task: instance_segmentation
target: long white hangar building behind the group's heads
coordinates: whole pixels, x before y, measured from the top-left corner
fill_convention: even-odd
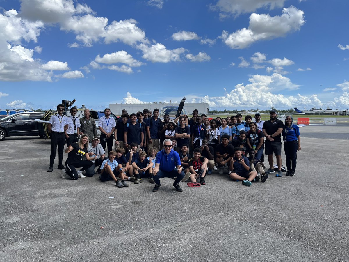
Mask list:
[[[162,103],[162,102],[153,102],[148,104],[109,104],[110,111],[114,115],[121,116],[122,109],[126,109],[128,114],[137,113],[138,111],[143,112],[143,109],[148,109],[153,112],[155,108],[161,110],[165,106],[177,106],[179,103]],[[184,109],[187,114],[191,115],[194,109],[198,109],[200,114],[209,114],[210,108],[208,103],[185,103]]]

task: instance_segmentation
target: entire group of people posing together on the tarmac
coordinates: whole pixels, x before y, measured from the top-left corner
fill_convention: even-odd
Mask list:
[[[97,126],[88,109],[80,119],[75,116],[76,108],[70,109],[69,117],[62,114],[63,110],[64,105],[59,104],[58,113],[51,116],[48,124],[51,155],[47,172],[53,171],[58,146],[62,178],[77,180],[97,173],[101,181],[113,180],[120,188],[128,187],[127,181],[139,184],[146,178],[155,183],[153,191],[158,191],[160,178],[172,177],[173,187],[183,191],[180,181],[188,181],[188,187],[200,187],[206,184],[207,174],[213,170],[223,174],[225,167],[232,180],[249,186],[253,181],[265,182],[270,173],[282,176],[281,136],[286,175],[295,175],[297,150],[301,149],[299,128],[293,124],[293,118],[287,116],[283,123],[274,110],[265,122],[261,121],[260,113],[254,115],[255,121],[245,116],[243,122],[240,114],[209,119],[205,114],[199,116],[198,110],[193,111],[192,118],[181,115],[170,119],[165,114],[162,120],[158,109],[153,110],[152,116],[148,109],[131,115],[123,110],[115,121],[106,108],[98,121],[101,136],[97,136]],[[65,167],[64,143],[67,144],[64,152],[68,154]],[[264,152],[269,162],[266,172]]]

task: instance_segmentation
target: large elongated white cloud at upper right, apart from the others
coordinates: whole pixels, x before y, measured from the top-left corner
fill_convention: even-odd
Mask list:
[[[283,8],[281,16],[271,17],[269,14],[250,15],[250,25],[229,34],[223,31],[220,36],[223,42],[232,49],[244,49],[260,40],[283,37],[299,30],[305,23],[304,12],[290,6]]]

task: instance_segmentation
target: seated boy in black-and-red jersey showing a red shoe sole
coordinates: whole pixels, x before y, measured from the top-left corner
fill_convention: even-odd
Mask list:
[[[193,155],[193,158],[189,160],[190,172],[185,174],[182,182],[185,182],[189,178],[191,182],[187,183],[188,187],[200,187],[200,184],[206,184],[204,177],[207,171],[208,159],[201,157],[200,148],[195,148]],[[200,179],[200,184],[196,182],[196,179]]]

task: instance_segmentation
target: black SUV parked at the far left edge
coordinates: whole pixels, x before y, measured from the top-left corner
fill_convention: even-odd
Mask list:
[[[0,141],[12,136],[39,136],[35,129],[35,119],[41,119],[44,113],[24,112],[0,119]]]

